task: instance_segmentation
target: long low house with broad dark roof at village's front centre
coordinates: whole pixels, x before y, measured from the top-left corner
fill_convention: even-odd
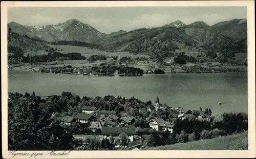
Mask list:
[[[101,130],[103,139],[118,138],[121,133],[127,134],[130,142],[134,141],[135,127],[102,127]]]

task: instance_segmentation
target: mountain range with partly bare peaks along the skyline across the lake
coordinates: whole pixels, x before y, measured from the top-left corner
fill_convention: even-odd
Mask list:
[[[247,19],[232,19],[212,26],[203,21],[186,25],[176,20],[162,27],[141,28],[129,32],[119,30],[111,34],[101,33],[77,19],[41,26],[23,26],[10,22],[8,27],[11,32],[41,40],[41,43],[81,41],[96,44],[106,51],[129,51],[151,56],[157,56],[160,52],[168,54],[186,47],[219,53],[247,52]],[[13,43],[13,37],[9,41]],[[12,45],[11,43],[8,44]],[[24,45],[20,45],[26,50]]]

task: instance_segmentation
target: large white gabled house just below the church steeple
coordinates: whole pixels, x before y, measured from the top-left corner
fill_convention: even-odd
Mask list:
[[[166,122],[163,119],[152,119],[151,121],[148,122],[150,127],[152,127],[153,129],[160,131],[170,131],[173,132],[173,124],[170,122]]]

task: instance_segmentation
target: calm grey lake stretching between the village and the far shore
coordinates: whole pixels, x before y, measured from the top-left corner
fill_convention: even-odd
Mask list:
[[[248,112],[247,72],[216,74],[147,74],[137,77],[103,77],[8,71],[8,92],[35,92],[38,96],[63,91],[82,96],[135,97],[184,109],[210,108],[223,112]],[[218,105],[222,102],[222,105]]]

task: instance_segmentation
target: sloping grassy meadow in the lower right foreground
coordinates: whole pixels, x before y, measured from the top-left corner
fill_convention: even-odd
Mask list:
[[[248,150],[248,131],[215,139],[151,147],[143,150]]]

